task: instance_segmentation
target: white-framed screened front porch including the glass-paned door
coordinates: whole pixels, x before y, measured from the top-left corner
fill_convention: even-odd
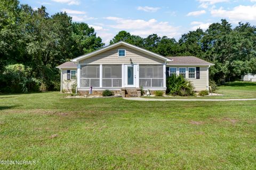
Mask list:
[[[99,64],[80,65],[78,88],[117,89],[122,87],[165,88],[165,65]]]

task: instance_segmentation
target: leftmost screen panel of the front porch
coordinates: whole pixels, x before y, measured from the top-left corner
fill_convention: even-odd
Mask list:
[[[100,66],[81,66],[80,87],[100,87]]]

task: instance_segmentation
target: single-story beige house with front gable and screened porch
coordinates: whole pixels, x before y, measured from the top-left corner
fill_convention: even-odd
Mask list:
[[[88,94],[92,87],[92,94],[100,95],[104,90],[120,94],[121,91],[138,90],[141,86],[151,93],[165,92],[166,77],[172,74],[190,80],[195,91],[208,90],[209,67],[213,65],[195,56],[165,57],[118,42],[78,56],[57,68],[61,70],[62,92],[76,82],[78,93]]]

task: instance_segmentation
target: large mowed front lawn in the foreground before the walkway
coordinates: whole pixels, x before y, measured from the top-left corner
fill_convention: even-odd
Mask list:
[[[0,95],[1,169],[256,169],[256,101]],[[0,160],[0,161],[1,161]]]

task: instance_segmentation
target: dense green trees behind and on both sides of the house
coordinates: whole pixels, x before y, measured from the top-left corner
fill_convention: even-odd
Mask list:
[[[232,27],[227,20],[205,31],[183,34],[179,41],[157,34],[146,38],[120,31],[110,44],[125,41],[163,56],[194,55],[215,66],[210,78],[217,83],[256,74],[256,28],[250,23]],[[17,0],[0,2],[0,92],[59,90],[55,67],[105,46],[94,29],[72,22],[66,12],[49,15],[45,6],[34,10]]]

